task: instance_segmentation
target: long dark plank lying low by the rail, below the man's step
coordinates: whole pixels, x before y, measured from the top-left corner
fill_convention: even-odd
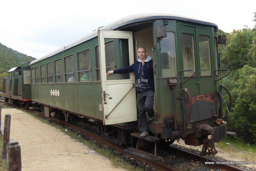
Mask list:
[[[163,160],[163,157],[160,157],[160,156],[157,156],[157,155],[154,155],[154,154],[151,154],[151,153],[148,153],[148,152],[136,149],[136,148],[132,148],[132,147],[126,148],[124,151],[128,154],[131,154],[131,155],[134,155],[137,157],[142,157],[143,159],[146,159],[146,160],[149,160],[152,162],[159,162],[159,161]]]

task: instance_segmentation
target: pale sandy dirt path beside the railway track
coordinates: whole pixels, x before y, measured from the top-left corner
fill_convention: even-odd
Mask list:
[[[11,114],[10,141],[20,144],[22,171],[125,171],[86,145],[20,110],[2,109],[2,132],[5,114]]]

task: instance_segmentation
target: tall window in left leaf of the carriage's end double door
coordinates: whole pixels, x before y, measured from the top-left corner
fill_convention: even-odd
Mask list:
[[[183,70],[195,70],[194,36],[183,33],[181,35],[181,42],[183,54]],[[192,74],[192,71],[184,72],[184,76],[191,76]]]

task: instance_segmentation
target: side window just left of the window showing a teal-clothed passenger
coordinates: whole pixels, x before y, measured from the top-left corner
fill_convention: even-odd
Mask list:
[[[75,81],[74,56],[65,58],[65,79],[66,82]]]

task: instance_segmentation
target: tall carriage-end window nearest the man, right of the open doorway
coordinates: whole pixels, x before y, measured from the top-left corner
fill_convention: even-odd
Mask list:
[[[177,76],[175,34],[173,32],[167,32],[167,37],[161,40],[161,64],[163,77]]]

